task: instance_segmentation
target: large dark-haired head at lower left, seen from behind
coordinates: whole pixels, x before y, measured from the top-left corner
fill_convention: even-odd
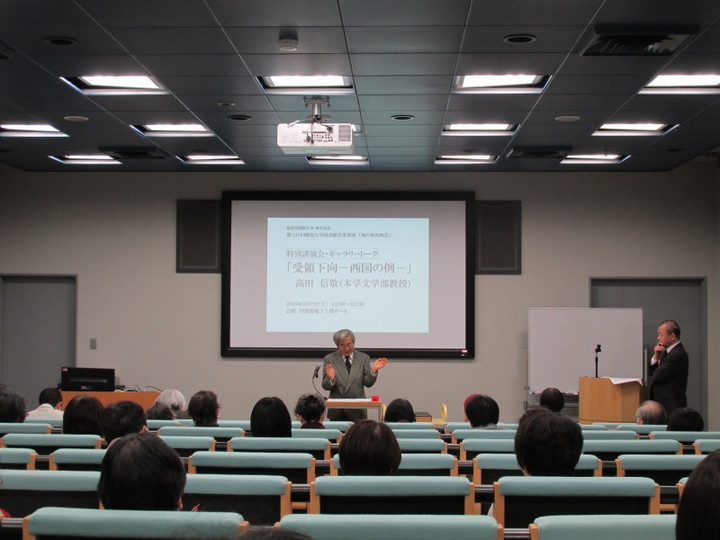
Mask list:
[[[98,495],[118,510],[179,510],[185,489],[180,456],[153,433],[115,439],[102,461]]]

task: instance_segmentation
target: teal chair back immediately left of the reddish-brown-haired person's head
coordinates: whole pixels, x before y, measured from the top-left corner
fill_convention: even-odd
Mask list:
[[[195,452],[188,458],[193,474],[280,475],[293,484],[315,480],[315,458],[302,452]]]

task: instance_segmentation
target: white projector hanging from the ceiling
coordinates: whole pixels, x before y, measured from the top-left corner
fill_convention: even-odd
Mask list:
[[[352,154],[355,150],[352,124],[278,124],[277,143],[286,154]]]

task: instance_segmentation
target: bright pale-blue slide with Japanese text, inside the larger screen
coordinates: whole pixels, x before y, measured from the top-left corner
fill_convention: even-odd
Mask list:
[[[428,331],[428,218],[269,218],[267,331]]]

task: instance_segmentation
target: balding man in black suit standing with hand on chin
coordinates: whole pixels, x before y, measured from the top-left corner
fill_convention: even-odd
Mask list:
[[[665,407],[668,417],[687,406],[688,355],[680,343],[680,327],[673,320],[658,327],[658,344],[650,361],[650,399]]]

